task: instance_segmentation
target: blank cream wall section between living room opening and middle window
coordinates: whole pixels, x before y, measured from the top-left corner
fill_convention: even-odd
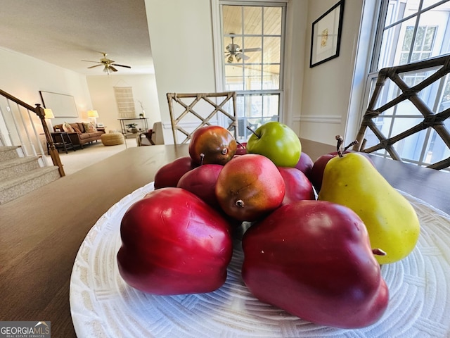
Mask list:
[[[210,0],[146,0],[161,119],[170,125],[168,92],[215,92]],[[164,130],[172,144],[172,130]]]

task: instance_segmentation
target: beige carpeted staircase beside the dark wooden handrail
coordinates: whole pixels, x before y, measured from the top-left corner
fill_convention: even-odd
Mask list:
[[[58,166],[41,166],[40,156],[23,156],[20,146],[0,146],[0,204],[60,177]]]

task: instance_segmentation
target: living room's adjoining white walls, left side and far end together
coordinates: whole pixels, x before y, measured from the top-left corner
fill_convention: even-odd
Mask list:
[[[54,118],[51,120],[52,125],[89,121],[87,111],[96,109],[100,116],[98,123],[106,125],[107,130],[119,130],[114,86],[133,87],[136,115],[141,113],[138,101],[142,101],[148,127],[161,120],[155,75],[102,74],[86,77],[3,47],[0,47],[0,65],[0,89],[31,106],[42,105],[39,90],[74,96],[78,117]],[[34,124],[41,132],[39,119]]]

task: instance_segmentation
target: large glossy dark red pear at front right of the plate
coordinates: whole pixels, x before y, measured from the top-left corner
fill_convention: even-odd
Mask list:
[[[378,321],[389,290],[361,218],[324,201],[276,209],[243,236],[250,292],[312,323],[352,329]]]

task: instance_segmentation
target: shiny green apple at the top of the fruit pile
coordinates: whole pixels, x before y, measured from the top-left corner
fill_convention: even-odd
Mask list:
[[[278,167],[295,167],[302,154],[302,144],[290,127],[271,121],[253,132],[247,142],[247,151],[270,158]]]

